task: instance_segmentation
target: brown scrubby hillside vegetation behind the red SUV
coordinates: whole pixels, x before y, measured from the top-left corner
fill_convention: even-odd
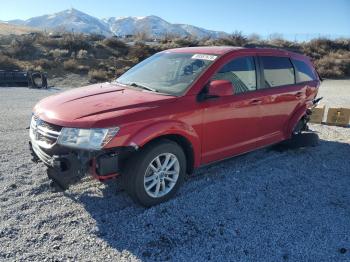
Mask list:
[[[297,43],[275,38],[260,40],[235,33],[221,39],[165,37],[159,42],[144,38],[126,43],[99,35],[44,33],[0,36],[0,69],[40,70],[49,78],[67,73],[89,76],[90,82],[113,79],[134,64],[164,49],[186,46],[268,46],[292,50],[310,56],[319,74],[325,78],[350,76],[350,39],[314,39]]]

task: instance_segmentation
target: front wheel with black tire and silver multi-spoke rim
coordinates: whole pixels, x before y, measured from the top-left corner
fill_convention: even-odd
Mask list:
[[[150,143],[132,157],[123,174],[131,198],[150,207],[174,196],[184,181],[186,157],[175,142],[162,139]]]

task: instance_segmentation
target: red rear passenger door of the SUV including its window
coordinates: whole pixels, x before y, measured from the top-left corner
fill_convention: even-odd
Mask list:
[[[259,55],[261,126],[257,146],[266,146],[285,139],[284,128],[304,98],[296,84],[293,64],[287,56]]]

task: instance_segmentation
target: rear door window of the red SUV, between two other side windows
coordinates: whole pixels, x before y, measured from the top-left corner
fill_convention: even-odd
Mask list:
[[[288,57],[261,56],[264,88],[295,84],[294,67]]]

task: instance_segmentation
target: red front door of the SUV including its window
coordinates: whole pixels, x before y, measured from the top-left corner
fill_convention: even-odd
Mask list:
[[[231,81],[234,95],[203,102],[202,164],[253,150],[260,136],[254,57],[234,58],[212,80]]]

